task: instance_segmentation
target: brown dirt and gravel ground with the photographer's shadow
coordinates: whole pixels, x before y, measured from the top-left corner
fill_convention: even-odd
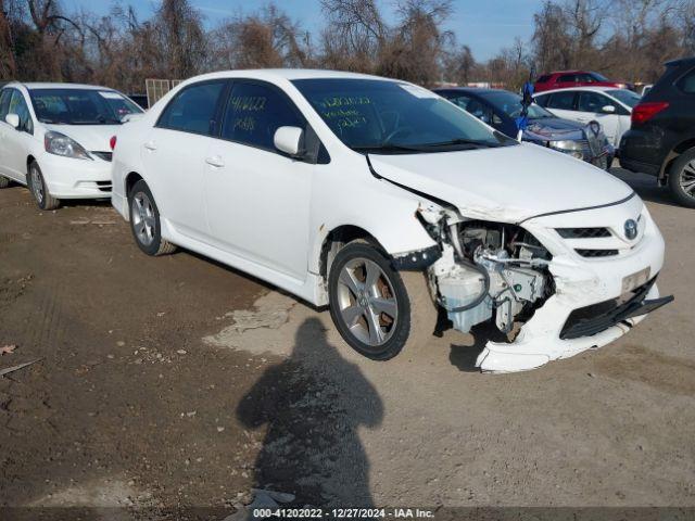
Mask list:
[[[675,302],[508,376],[473,370],[482,334],[359,358],[326,312],[186,252],[146,257],[108,203],[39,213],[2,190],[0,347],[17,347],[0,368],[41,360],[0,379],[0,506],[230,513],[255,485],[295,505],[695,506],[695,212],[622,177]]]

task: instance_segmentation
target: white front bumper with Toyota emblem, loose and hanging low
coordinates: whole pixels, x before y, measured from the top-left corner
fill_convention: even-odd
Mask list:
[[[639,215],[640,237],[632,243],[620,239],[626,220]],[[614,239],[585,241],[591,241],[590,247],[612,247],[616,242],[620,253],[604,258],[579,255],[574,250],[581,247],[578,241],[565,240],[556,231],[578,223],[616,230]],[[514,342],[488,342],[476,364],[481,370],[523,371],[602,347],[630,331],[647,313],[671,301],[671,297],[659,298],[654,282],[664,266],[664,239],[639,198],[598,209],[539,217],[522,226],[553,255],[548,270],[555,282],[555,294],[535,309]],[[626,280],[643,271],[648,274],[649,283],[641,282],[643,285],[636,289],[624,288]],[[630,291],[633,294],[627,294]]]

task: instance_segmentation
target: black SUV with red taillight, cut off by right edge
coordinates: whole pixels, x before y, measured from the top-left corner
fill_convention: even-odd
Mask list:
[[[695,208],[695,58],[666,72],[632,110],[620,140],[620,164],[668,182],[679,203]]]

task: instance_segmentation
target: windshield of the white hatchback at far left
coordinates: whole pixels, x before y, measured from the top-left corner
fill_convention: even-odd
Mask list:
[[[36,117],[55,125],[118,125],[138,105],[114,90],[31,89]]]

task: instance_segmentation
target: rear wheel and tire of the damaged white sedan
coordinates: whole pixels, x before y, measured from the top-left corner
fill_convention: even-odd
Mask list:
[[[160,211],[148,183],[143,180],[136,182],[128,192],[128,212],[130,213],[130,231],[142,252],[157,256],[176,251],[175,244],[162,238]]]

